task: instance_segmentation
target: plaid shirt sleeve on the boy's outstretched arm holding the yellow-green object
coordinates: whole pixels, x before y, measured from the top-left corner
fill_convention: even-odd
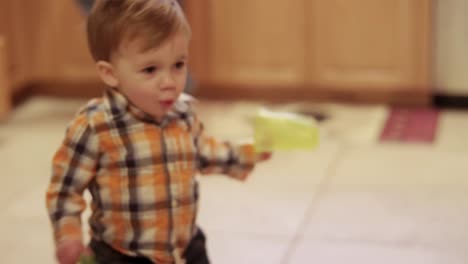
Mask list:
[[[253,170],[256,155],[252,144],[220,142],[205,135],[203,124],[194,117],[194,138],[198,169],[202,174],[221,173],[244,180]]]

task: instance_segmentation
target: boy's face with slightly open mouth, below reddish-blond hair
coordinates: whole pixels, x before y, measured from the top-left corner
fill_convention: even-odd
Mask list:
[[[138,108],[161,120],[185,87],[188,45],[183,32],[148,51],[142,51],[138,40],[122,44],[111,59],[114,86]]]

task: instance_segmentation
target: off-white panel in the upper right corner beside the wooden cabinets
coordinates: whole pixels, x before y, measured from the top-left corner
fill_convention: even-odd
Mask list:
[[[434,0],[436,92],[468,96],[468,1]]]

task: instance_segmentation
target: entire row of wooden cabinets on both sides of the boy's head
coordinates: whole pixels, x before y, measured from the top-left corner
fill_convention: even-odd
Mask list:
[[[428,102],[431,0],[203,0],[185,9],[202,95]],[[63,88],[100,83],[75,1],[0,1],[0,35],[13,91],[58,83],[53,92],[100,93]]]

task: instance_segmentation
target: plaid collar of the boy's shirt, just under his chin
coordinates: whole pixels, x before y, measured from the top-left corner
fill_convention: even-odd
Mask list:
[[[182,93],[174,103],[172,109],[163,118],[162,122],[159,122],[153,116],[131,103],[128,98],[116,88],[107,89],[105,96],[107,98],[110,113],[114,119],[131,114],[137,119],[156,124],[168,123],[169,121],[183,117],[190,111],[190,102],[195,100],[192,96]]]

